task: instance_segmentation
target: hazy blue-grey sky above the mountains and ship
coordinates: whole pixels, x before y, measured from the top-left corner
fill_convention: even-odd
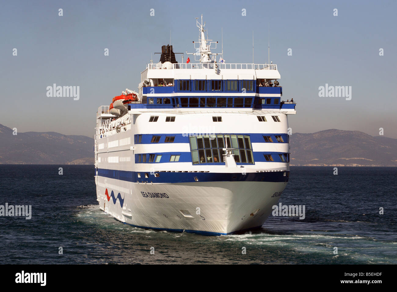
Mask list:
[[[386,137],[397,138],[396,11],[396,1],[3,1],[0,124],[93,137],[98,106],[137,89],[151,53],[170,43],[170,31],[174,52],[194,51],[195,17],[203,14],[210,39],[221,43],[223,27],[227,63],[252,62],[252,30],[254,62],[267,62],[270,23],[282,99],[297,102],[297,114],[289,116],[293,132],[378,135],[384,128]],[[53,83],[79,86],[80,99],[47,97]],[[351,100],[319,97],[326,83],[351,86]]]

